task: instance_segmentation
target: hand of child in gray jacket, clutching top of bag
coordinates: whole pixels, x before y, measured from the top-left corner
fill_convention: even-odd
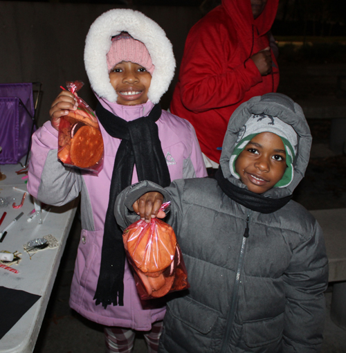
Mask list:
[[[142,195],[133,205],[134,212],[140,215],[140,219],[149,223],[150,219],[164,218],[165,212],[160,211],[163,203],[163,195],[160,192],[147,192]]]

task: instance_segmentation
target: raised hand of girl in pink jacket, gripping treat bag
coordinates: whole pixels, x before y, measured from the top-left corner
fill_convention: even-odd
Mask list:
[[[77,98],[70,91],[62,91],[54,100],[49,110],[51,123],[54,129],[59,129],[60,118],[69,114],[69,110],[76,110],[78,107]],[[66,110],[68,109],[68,110]]]

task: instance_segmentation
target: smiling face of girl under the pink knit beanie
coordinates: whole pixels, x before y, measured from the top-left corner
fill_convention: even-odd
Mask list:
[[[109,73],[109,80],[118,94],[120,105],[139,105],[147,102],[152,75],[134,62],[120,62]]]

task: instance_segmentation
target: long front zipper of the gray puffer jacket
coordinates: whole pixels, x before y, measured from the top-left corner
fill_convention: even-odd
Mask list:
[[[227,352],[228,344],[229,344],[229,340],[230,340],[230,334],[232,332],[233,323],[235,320],[235,309],[237,307],[237,300],[238,300],[238,296],[239,296],[240,273],[242,272],[242,268],[244,265],[245,244],[246,244],[246,239],[248,238],[248,231],[249,231],[248,224],[250,221],[251,213],[252,213],[252,211],[250,210],[248,212],[248,217],[246,217],[246,227],[245,227],[244,235],[243,235],[243,239],[242,239],[242,246],[240,247],[239,260],[238,260],[238,264],[237,264],[237,274],[235,275],[235,282],[233,285],[233,295],[230,300],[230,309],[227,314],[226,328],[225,328],[224,338],[223,338],[222,344],[221,344],[220,353]]]

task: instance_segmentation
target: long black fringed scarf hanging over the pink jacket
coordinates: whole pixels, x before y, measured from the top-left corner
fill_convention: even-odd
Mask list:
[[[95,291],[95,304],[124,305],[125,249],[122,243],[122,230],[114,217],[114,204],[118,194],[131,185],[134,165],[138,181],[154,181],[163,187],[170,185],[165,156],[158,138],[156,120],[161,116],[160,105],[154,105],[149,116],[127,122],[115,116],[100,103],[96,115],[109,135],[122,141],[116,153],[111,189],[102,243],[102,257],[98,287]]]

